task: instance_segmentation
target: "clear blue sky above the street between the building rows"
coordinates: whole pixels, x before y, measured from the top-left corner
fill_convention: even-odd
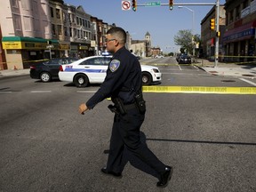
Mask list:
[[[132,0],[131,0],[132,2]],[[168,4],[169,0],[137,0],[137,4],[161,2]],[[179,52],[180,46],[175,45],[174,36],[180,30],[193,28],[193,12],[195,15],[195,34],[201,34],[201,21],[212,9],[212,5],[183,5],[186,3],[216,3],[216,0],[173,0],[173,9],[169,6],[138,6],[137,11],[122,10],[122,0],[64,0],[65,4],[82,5],[84,11],[93,17],[108,23],[115,23],[124,28],[132,36],[132,40],[144,40],[146,33],[151,36],[152,46],[159,46],[163,52]],[[220,0],[225,4],[225,0]],[[185,8],[187,7],[187,8]]]

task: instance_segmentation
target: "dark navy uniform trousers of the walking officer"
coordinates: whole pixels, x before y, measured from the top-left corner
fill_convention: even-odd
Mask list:
[[[148,149],[146,143],[140,141],[140,126],[144,118],[145,115],[141,115],[137,108],[128,110],[124,116],[115,115],[108,155],[108,172],[123,172],[127,163],[124,148],[159,174],[164,172],[165,165]]]

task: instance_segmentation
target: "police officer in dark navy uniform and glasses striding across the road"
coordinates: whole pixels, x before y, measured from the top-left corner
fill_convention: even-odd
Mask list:
[[[131,52],[125,49],[126,33],[123,28],[110,28],[106,36],[108,52],[113,54],[108,64],[107,76],[100,89],[90,100],[79,106],[79,112],[84,114],[88,109],[108,97],[115,106],[109,106],[115,111],[114,124],[110,139],[107,167],[101,172],[122,177],[127,163],[123,158],[124,148],[148,164],[159,174],[156,186],[165,188],[172,177],[172,167],[163,164],[147,147],[140,142],[140,126],[145,118],[145,102],[141,92],[140,62]],[[137,98],[136,98],[137,97]]]

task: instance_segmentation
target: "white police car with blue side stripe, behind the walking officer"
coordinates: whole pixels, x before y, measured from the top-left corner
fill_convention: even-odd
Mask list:
[[[60,81],[73,82],[76,87],[86,87],[89,84],[103,83],[112,56],[92,56],[68,65],[61,65]],[[161,81],[159,68],[141,65],[142,84],[152,84]]]

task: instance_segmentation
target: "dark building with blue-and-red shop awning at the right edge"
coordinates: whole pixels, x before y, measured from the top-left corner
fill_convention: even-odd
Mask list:
[[[255,55],[256,1],[227,0],[226,31],[223,36],[225,60],[252,61]]]

